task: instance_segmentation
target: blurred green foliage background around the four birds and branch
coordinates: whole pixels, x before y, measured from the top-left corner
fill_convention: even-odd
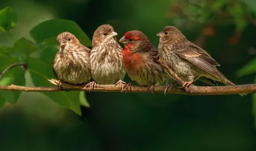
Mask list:
[[[221,64],[230,81],[255,81],[255,0],[1,0],[0,9],[6,6],[17,14],[17,26],[0,28],[0,69],[17,61],[29,65],[26,72],[12,69],[0,84],[51,86],[46,79],[53,78],[56,34],[68,30],[90,47],[88,37],[101,24],[111,24],[118,39],[141,30],[156,47],[156,34],[176,26]],[[15,16],[7,18],[15,23]],[[0,19],[0,27],[8,29]],[[51,19],[65,20],[44,22]],[[0,91],[0,106],[1,151],[256,150],[252,94]]]

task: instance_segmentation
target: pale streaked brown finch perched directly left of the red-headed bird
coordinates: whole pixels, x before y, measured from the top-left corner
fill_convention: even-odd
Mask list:
[[[92,78],[97,84],[125,84],[122,79],[125,76],[122,59],[122,47],[116,42],[117,33],[109,24],[99,26],[92,38],[92,52],[90,64]],[[92,89],[97,86],[90,83]]]

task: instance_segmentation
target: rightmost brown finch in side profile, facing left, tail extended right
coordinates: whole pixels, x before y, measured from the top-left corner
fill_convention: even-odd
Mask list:
[[[186,81],[183,87],[188,88],[200,77],[207,77],[226,85],[235,85],[216,68],[220,64],[202,48],[189,42],[179,29],[166,26],[157,36],[160,36],[159,58],[168,64],[177,76]]]

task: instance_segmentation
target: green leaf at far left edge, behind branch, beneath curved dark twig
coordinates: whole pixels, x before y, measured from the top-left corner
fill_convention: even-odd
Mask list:
[[[15,67],[8,70],[7,74],[4,75],[0,81],[0,85],[8,86],[11,84],[24,86],[26,84],[25,72],[22,67]],[[10,103],[15,103],[20,97],[22,91],[0,91],[0,95]]]

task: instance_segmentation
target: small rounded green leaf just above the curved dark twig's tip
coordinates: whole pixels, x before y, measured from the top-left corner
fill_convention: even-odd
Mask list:
[[[38,45],[34,44],[30,40],[26,38],[20,38],[15,42],[13,45],[13,48],[16,52],[19,54],[24,54],[26,57],[29,57],[29,55],[39,49]]]

